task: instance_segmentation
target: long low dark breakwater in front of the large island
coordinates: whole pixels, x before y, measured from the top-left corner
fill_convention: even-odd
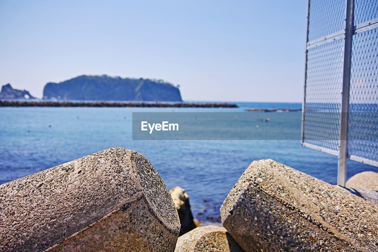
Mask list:
[[[149,102],[72,102],[72,101],[0,101],[0,107],[238,107],[232,103],[149,103]]]

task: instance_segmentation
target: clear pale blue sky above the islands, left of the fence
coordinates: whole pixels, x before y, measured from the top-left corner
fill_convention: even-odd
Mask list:
[[[302,101],[306,1],[0,0],[0,84],[164,79],[183,100]]]

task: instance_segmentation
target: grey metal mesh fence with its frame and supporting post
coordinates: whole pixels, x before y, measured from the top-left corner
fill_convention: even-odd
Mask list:
[[[339,156],[339,185],[344,157],[378,166],[377,112],[378,0],[309,0],[302,145]]]

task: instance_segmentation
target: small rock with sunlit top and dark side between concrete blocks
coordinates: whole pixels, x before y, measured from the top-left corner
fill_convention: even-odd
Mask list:
[[[186,193],[185,189],[177,186],[169,190],[169,193],[172,196],[178,212],[178,217],[180,218],[180,235],[195,229],[196,226],[193,221],[193,215],[189,204],[189,195]]]

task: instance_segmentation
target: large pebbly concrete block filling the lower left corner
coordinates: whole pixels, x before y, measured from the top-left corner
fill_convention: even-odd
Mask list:
[[[120,147],[0,185],[0,209],[2,251],[173,251],[180,230],[158,172]]]

